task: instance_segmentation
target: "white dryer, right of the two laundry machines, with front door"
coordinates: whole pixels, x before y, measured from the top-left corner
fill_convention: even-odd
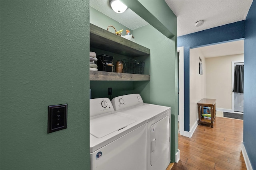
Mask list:
[[[114,110],[147,121],[147,170],[166,170],[170,164],[171,108],[143,102],[140,94],[112,99]]]

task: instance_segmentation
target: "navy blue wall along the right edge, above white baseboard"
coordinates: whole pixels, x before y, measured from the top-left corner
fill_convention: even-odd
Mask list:
[[[256,170],[256,1],[245,21],[244,39],[244,147]]]

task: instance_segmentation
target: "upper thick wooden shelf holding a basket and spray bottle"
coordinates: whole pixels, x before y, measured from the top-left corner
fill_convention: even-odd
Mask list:
[[[92,23],[90,23],[90,46],[128,57],[138,57],[150,54],[150,49],[115,35]]]

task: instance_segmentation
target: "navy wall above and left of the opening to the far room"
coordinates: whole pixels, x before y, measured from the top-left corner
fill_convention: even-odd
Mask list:
[[[190,131],[189,127],[189,49],[244,39],[245,20],[206,29],[196,33],[178,37],[178,47],[184,46],[184,130]]]

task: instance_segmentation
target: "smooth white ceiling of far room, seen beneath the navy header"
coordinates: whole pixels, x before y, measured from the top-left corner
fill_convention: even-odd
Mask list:
[[[244,54],[244,40],[232,41],[197,48],[205,58]]]

